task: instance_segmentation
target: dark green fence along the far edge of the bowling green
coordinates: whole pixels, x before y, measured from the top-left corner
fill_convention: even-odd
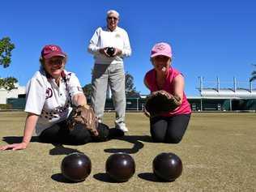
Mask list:
[[[237,100],[237,99],[207,99],[196,98],[188,99],[193,111],[256,111],[256,99]],[[91,103],[91,100],[87,100]],[[143,111],[145,98],[127,98],[126,110]],[[7,99],[8,109],[24,109],[26,105],[25,98]],[[113,100],[107,99],[105,110],[114,110]]]

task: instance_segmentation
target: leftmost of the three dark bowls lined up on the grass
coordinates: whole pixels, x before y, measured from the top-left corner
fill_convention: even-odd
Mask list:
[[[62,175],[69,181],[84,181],[91,173],[92,163],[88,156],[74,152],[62,160]]]

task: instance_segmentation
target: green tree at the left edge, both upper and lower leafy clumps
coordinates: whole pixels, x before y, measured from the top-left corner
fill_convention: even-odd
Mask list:
[[[15,45],[11,43],[9,37],[3,37],[0,40],[0,65],[3,68],[10,66],[11,64],[11,51],[15,49]],[[6,90],[10,91],[15,88],[15,83],[18,80],[15,77],[0,78],[0,87],[4,87]]]

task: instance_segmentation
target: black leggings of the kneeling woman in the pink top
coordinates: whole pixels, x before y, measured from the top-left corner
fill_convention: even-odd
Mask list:
[[[150,133],[156,143],[179,143],[190,122],[190,114],[173,117],[152,117]]]

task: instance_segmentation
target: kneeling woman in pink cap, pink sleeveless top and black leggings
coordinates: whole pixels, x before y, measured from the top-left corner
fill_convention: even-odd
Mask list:
[[[181,98],[179,106],[169,113],[150,117],[150,132],[154,142],[179,143],[190,122],[190,103],[184,93],[184,77],[171,66],[172,49],[161,42],[151,49],[152,70],[147,71],[144,83],[151,92],[164,90]]]

